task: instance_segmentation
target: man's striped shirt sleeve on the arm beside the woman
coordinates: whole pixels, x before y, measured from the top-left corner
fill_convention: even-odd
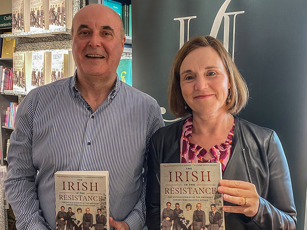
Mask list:
[[[151,109],[149,117],[153,117],[151,124],[149,125],[149,131],[147,134],[146,154],[143,163],[143,173],[141,176],[141,195],[138,202],[134,206],[134,209],[125,218],[125,222],[128,224],[130,230],[139,230],[144,227],[146,221],[146,207],[145,207],[145,194],[146,194],[146,182],[147,182],[147,153],[149,149],[150,138],[159,128],[164,127],[164,121],[161,114],[160,106],[154,101],[154,106]]]

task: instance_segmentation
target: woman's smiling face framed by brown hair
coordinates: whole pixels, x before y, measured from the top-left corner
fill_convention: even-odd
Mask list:
[[[192,50],[180,66],[180,86],[193,115],[218,115],[226,112],[230,83],[219,54],[212,47]]]

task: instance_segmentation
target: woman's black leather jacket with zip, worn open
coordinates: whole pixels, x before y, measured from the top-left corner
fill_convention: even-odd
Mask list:
[[[160,128],[152,136],[148,153],[147,226],[160,229],[160,163],[180,162],[180,136],[184,121]],[[159,180],[158,180],[159,179]],[[259,194],[255,217],[225,212],[225,229],[295,229],[296,209],[289,168],[276,133],[235,118],[231,156],[223,179],[251,182]],[[235,205],[224,201],[224,205]]]

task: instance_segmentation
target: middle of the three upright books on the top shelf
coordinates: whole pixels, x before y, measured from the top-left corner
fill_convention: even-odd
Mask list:
[[[48,10],[48,0],[30,0],[30,31],[42,31],[49,29],[49,23],[46,23],[46,15]],[[47,10],[47,11],[46,11]]]

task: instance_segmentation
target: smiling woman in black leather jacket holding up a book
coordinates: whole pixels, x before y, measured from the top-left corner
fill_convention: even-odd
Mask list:
[[[276,133],[233,116],[247,99],[247,85],[219,40],[194,37],[177,52],[169,105],[177,117],[189,117],[152,136],[149,230],[160,229],[160,163],[180,162],[221,162],[225,229],[295,229],[290,174]]]

